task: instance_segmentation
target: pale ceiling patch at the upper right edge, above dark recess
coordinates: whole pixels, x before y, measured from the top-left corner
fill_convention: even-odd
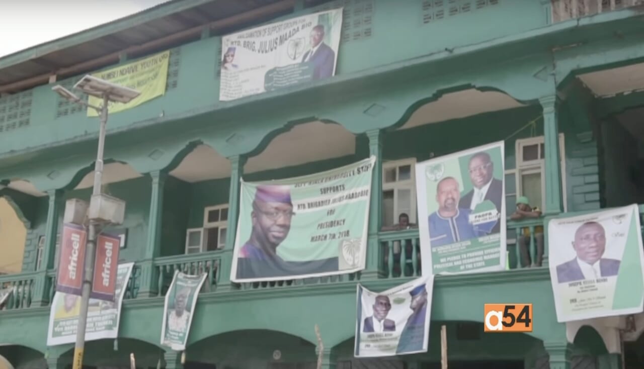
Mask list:
[[[644,89],[644,63],[594,71],[578,76],[598,97]]]

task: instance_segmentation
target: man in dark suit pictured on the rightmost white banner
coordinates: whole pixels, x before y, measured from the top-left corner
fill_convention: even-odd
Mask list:
[[[574,232],[573,248],[577,257],[557,265],[559,283],[617,275],[620,261],[601,257],[606,249],[606,232],[600,223],[583,223]]]

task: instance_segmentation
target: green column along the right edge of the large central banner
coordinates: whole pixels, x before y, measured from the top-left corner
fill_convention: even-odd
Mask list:
[[[383,202],[383,135],[380,129],[372,129],[366,132],[369,138],[369,155],[375,156],[374,175],[371,182],[371,204],[369,207],[369,234],[366,250],[366,270],[363,276],[366,278],[378,278],[380,266],[380,241],[378,232],[382,223],[382,202]]]

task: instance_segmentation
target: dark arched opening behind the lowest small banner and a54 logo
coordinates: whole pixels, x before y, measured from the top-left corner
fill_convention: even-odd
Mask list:
[[[483,323],[470,321],[431,321],[427,352],[381,358],[355,358],[354,337],[334,347],[339,367],[440,369],[440,327],[446,326],[448,368],[519,369],[533,360],[532,352],[541,341],[527,334],[486,334]]]

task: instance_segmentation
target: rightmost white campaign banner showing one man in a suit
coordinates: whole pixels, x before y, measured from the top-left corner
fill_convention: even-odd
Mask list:
[[[644,310],[638,205],[550,220],[548,245],[557,321]]]

